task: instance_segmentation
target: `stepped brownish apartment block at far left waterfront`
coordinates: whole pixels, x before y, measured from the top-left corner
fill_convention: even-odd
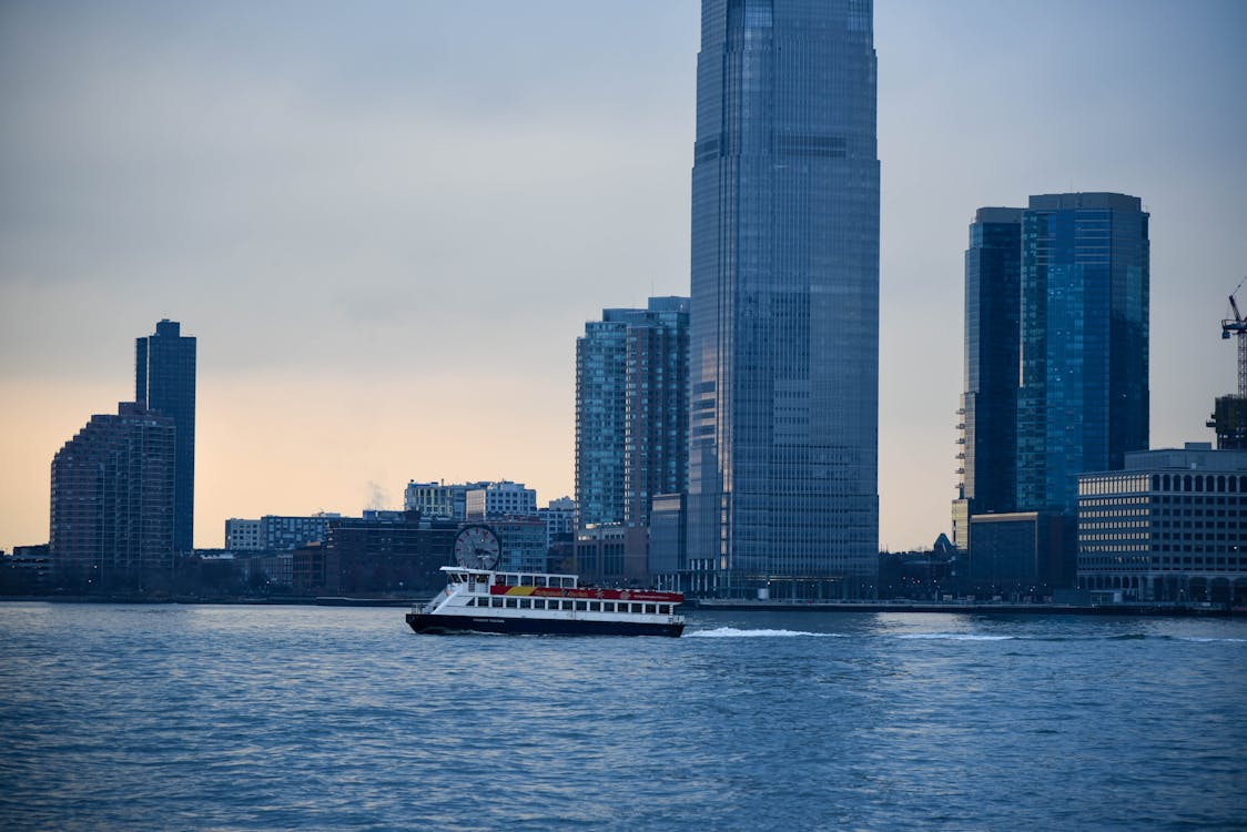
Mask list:
[[[173,565],[176,424],[123,402],[56,452],[49,549],[80,589],[151,586]]]

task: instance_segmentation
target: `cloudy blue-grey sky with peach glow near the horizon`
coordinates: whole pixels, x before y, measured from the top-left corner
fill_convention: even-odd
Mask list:
[[[949,529],[966,227],[1151,212],[1152,447],[1212,440],[1247,277],[1247,4],[877,0],[880,545]],[[52,455],[198,338],[196,545],[572,493],[575,339],[688,293],[696,0],[0,1],[0,549]]]

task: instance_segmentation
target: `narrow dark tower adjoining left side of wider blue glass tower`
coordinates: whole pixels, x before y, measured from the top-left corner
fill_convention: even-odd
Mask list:
[[[958,438],[953,543],[969,548],[969,518],[1013,511],[1016,499],[1021,208],[979,208],[965,249],[965,392]]]

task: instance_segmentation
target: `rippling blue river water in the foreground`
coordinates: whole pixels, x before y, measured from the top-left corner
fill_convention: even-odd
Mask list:
[[[1247,828],[1247,621],[0,604],[0,828]]]

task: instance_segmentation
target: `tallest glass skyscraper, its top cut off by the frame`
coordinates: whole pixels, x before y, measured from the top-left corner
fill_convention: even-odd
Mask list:
[[[703,0],[688,559],[722,596],[874,593],[870,0]]]

